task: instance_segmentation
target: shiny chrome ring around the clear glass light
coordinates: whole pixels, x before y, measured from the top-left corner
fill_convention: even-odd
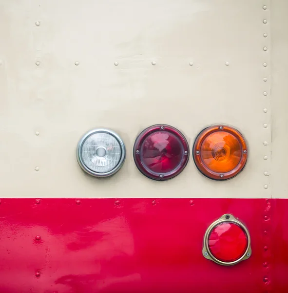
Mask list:
[[[120,150],[121,150],[121,157],[120,160],[118,162],[118,164],[110,171],[105,172],[105,173],[99,173],[99,172],[95,172],[93,170],[91,170],[90,168],[88,168],[84,162],[83,162],[83,158],[82,158],[82,147],[84,142],[86,141],[86,139],[96,133],[107,133],[112,135],[116,141],[119,143],[120,146]],[[126,157],[126,151],[125,151],[125,145],[122,141],[122,139],[112,130],[110,129],[106,129],[106,128],[96,128],[93,130],[90,130],[88,132],[86,132],[81,139],[79,140],[78,144],[77,144],[77,149],[76,149],[76,157],[77,157],[77,162],[79,164],[79,166],[88,174],[94,176],[94,177],[108,177],[111,176],[113,174],[115,174],[117,171],[119,171],[119,169],[123,166],[124,161],[125,161],[125,157]]]

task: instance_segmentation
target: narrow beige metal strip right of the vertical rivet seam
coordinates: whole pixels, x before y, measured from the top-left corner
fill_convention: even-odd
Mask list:
[[[288,1],[272,0],[272,197],[288,197]]]

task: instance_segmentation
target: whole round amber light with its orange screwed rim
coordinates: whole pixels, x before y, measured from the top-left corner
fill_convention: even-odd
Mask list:
[[[247,161],[247,144],[242,134],[230,126],[210,126],[201,131],[193,146],[199,171],[216,180],[236,176]]]

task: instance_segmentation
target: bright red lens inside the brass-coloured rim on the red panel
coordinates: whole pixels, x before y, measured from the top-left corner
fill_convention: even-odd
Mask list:
[[[236,223],[219,223],[208,236],[208,247],[217,260],[230,263],[245,254],[248,248],[248,235]]]

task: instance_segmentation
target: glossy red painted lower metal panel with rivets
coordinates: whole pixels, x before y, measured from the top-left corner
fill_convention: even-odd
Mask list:
[[[288,200],[78,201],[1,199],[1,293],[288,292]],[[231,267],[202,255],[225,213],[251,236]]]

